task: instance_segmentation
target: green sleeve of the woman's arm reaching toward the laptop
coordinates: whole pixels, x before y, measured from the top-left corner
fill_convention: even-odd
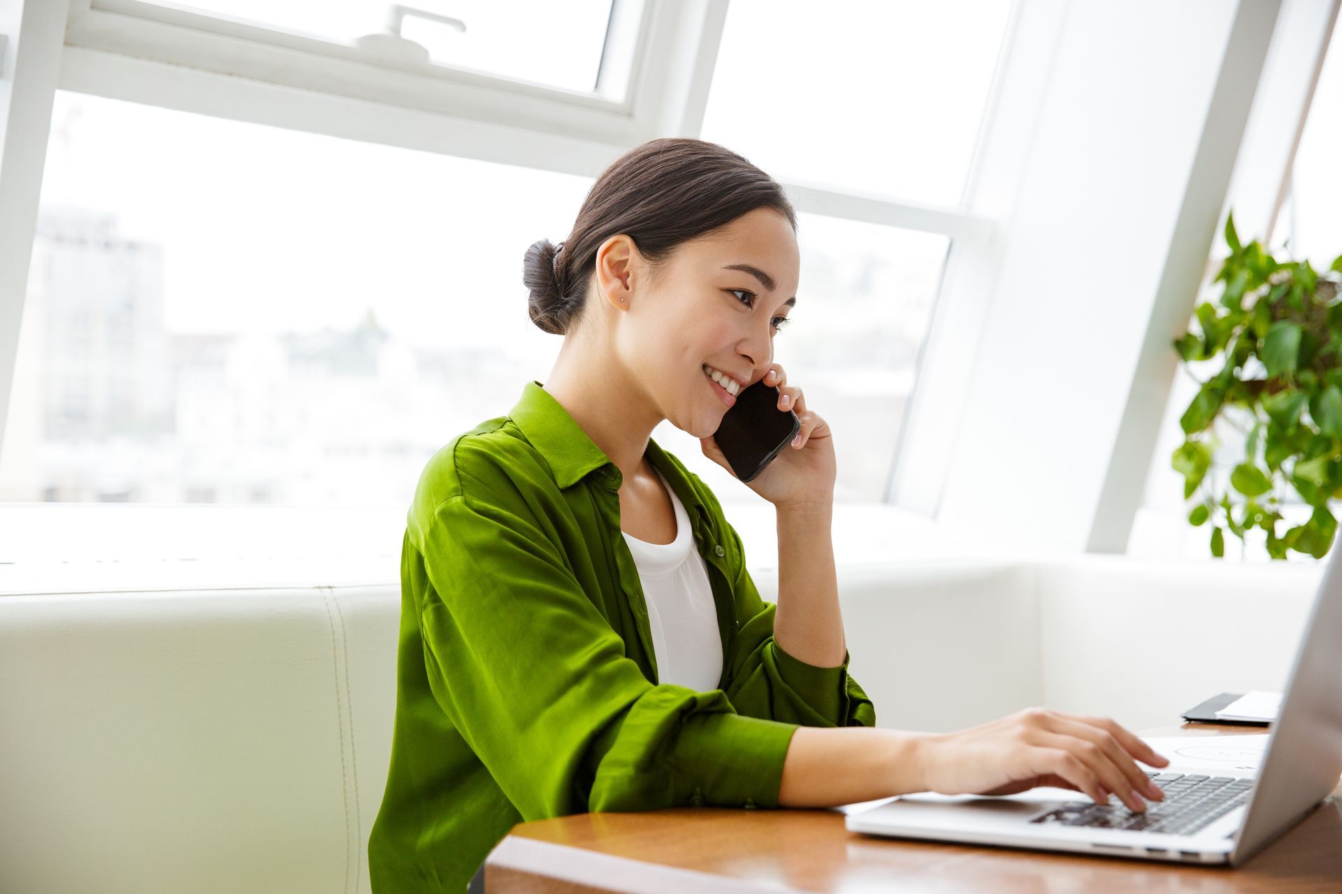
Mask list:
[[[411,531],[433,698],[522,818],[776,806],[797,722],[651,684],[542,528],[519,495],[463,492]]]

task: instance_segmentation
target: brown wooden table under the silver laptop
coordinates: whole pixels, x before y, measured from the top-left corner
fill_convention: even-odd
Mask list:
[[[1142,736],[1260,733],[1184,724]],[[484,866],[488,894],[518,891],[1228,891],[1342,893],[1342,784],[1239,869],[939,844],[849,832],[825,810],[676,808],[522,823]]]

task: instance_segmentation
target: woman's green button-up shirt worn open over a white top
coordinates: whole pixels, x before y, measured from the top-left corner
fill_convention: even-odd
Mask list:
[[[396,724],[368,842],[374,891],[462,891],[523,820],[776,807],[797,725],[874,725],[839,667],[773,641],[713,492],[648,441],[694,525],[722,635],[718,689],[658,685],[619,468],[541,386],[428,461],[407,513]]]

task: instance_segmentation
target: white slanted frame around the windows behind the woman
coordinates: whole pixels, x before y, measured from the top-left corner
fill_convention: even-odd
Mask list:
[[[620,4],[621,0],[615,0]],[[1062,7],[1015,0],[982,113],[974,162],[957,205],[902,201],[815,182],[782,180],[797,210],[950,239],[941,294],[919,354],[915,399],[906,428],[890,445],[891,469],[911,425],[926,420],[915,405],[954,414],[964,390],[956,370],[972,366],[984,314],[978,288],[992,277],[1001,197],[1020,158],[996,155],[985,188],[982,145],[1002,115],[1001,76],[1011,64],[1025,79],[1047,76],[1047,35]],[[346,139],[436,151],[595,177],[628,149],[666,135],[698,137],[727,13],[727,0],[644,0],[631,32],[636,48],[621,102],[523,83],[482,72],[435,67],[395,68],[336,43],[248,25],[142,0],[0,0],[5,80],[0,166],[0,444],[12,386],[19,322],[36,229],[38,194],[56,90],[178,111],[279,126]],[[1023,15],[1035,35],[1029,52],[1013,44]],[[17,42],[15,38],[17,36]],[[4,51],[0,47],[0,51]],[[1017,91],[1017,95],[1024,95]],[[1015,102],[1007,125],[1028,131],[1028,103]],[[994,123],[996,122],[996,123]],[[958,326],[969,320],[969,328]],[[950,330],[954,338],[942,335]],[[938,394],[922,394],[927,383]],[[918,398],[922,398],[921,401]],[[931,478],[946,468],[930,466]],[[923,481],[931,480],[926,474]],[[934,515],[896,489],[886,501]]]

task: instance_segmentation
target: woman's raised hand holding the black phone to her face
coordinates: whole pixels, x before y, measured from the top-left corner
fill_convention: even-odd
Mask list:
[[[788,374],[773,363],[764,375],[765,385],[778,386],[778,410],[792,410],[801,420],[797,432],[800,444],[788,444],[778,456],[746,487],[776,507],[833,503],[835,448],[829,437],[829,424],[807,409],[801,389],[788,385]],[[731,410],[727,410],[729,413]],[[713,437],[699,438],[703,454],[731,472]],[[731,472],[733,477],[735,473]]]

